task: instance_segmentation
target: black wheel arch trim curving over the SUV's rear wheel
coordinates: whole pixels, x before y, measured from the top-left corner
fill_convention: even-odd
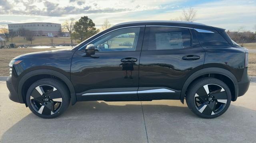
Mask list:
[[[222,68],[218,68],[218,67],[211,67],[211,68],[204,68],[204,69],[200,69],[199,71],[196,71],[194,73],[192,73],[187,80],[185,81],[185,83],[182,86],[182,90],[180,93],[180,101],[184,104],[184,97],[186,94],[186,90],[188,89],[188,86],[199,76],[202,76],[204,74],[222,74],[224,76],[227,76],[228,78],[230,78],[230,80],[233,82],[234,86],[235,86],[235,95],[234,95],[234,99],[233,101],[236,100],[236,98],[238,97],[238,82],[236,80],[236,77],[234,76],[234,74],[232,74],[232,72],[226,70],[226,69],[222,69]]]

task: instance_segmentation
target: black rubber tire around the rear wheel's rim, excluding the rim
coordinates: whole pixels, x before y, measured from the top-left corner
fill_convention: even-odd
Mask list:
[[[217,85],[221,86],[222,88],[224,88],[224,90],[226,91],[227,103],[226,103],[224,109],[222,109],[222,111],[220,111],[219,113],[214,114],[214,115],[202,114],[201,112],[198,111],[198,109],[196,108],[196,106],[194,104],[194,96],[195,96],[197,90],[206,84],[217,84]],[[190,110],[192,112],[194,112],[194,114],[196,114],[197,116],[202,117],[202,118],[216,118],[216,117],[224,114],[224,112],[226,112],[226,110],[228,110],[228,107],[230,106],[231,97],[232,97],[228,86],[224,82],[222,82],[221,80],[218,80],[216,78],[202,78],[202,79],[197,80],[196,82],[194,82],[192,84],[192,86],[190,86],[187,93],[188,94],[186,95],[186,103],[188,105],[188,108],[190,108]]]

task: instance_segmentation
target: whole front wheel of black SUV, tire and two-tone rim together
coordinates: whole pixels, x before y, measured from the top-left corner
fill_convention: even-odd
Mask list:
[[[34,82],[27,91],[29,109],[41,118],[56,118],[69,106],[70,93],[67,86],[54,78]]]

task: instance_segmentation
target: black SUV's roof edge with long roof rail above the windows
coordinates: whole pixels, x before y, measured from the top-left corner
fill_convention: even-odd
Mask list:
[[[205,29],[213,32],[224,31],[225,29],[212,27],[195,22],[178,22],[178,21],[137,21],[137,22],[125,22],[114,25],[112,28],[125,27],[125,26],[136,26],[136,25],[171,25],[180,27],[191,27],[197,29]]]

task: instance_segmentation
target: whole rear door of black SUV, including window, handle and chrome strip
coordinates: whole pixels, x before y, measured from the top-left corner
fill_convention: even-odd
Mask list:
[[[140,56],[139,99],[180,99],[184,82],[203,67],[204,56],[192,28],[146,26]]]

